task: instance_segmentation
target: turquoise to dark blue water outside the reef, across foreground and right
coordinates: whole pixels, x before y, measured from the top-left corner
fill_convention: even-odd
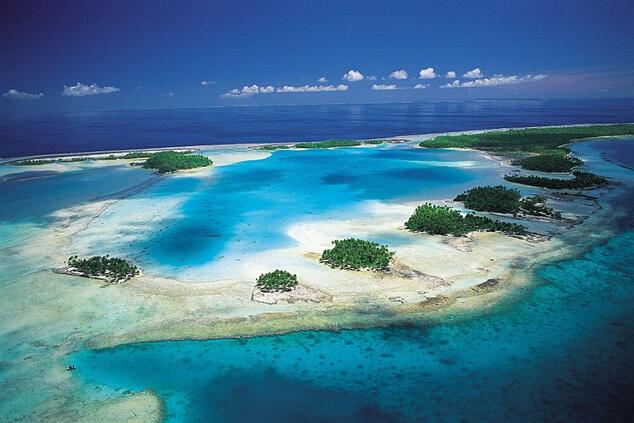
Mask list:
[[[575,149],[626,185],[604,199],[610,213],[597,221],[596,232],[610,225],[617,235],[567,235],[582,253],[544,265],[493,311],[428,327],[84,350],[71,358],[76,375],[93,387],[152,388],[174,422],[628,421],[634,174],[598,157],[631,158],[632,144]]]

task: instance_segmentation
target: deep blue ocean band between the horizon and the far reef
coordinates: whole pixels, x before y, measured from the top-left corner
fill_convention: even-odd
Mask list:
[[[474,100],[0,116],[0,157],[634,121],[634,100]]]

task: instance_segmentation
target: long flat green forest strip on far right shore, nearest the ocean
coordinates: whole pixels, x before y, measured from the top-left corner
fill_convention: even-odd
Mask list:
[[[421,142],[420,146],[565,155],[569,151],[561,146],[576,139],[633,134],[634,125],[632,124],[511,129],[469,135],[441,135]]]

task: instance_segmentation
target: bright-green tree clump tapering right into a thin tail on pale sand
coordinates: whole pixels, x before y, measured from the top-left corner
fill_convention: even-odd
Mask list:
[[[463,236],[473,231],[495,231],[509,235],[526,233],[526,228],[522,225],[500,222],[474,214],[463,216],[451,207],[435,206],[429,203],[418,206],[414,214],[405,222],[405,227],[410,231],[426,232],[431,235]]]

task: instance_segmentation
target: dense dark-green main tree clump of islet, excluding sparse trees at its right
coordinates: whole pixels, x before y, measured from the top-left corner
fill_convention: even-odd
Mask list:
[[[463,192],[454,201],[462,201],[466,208],[477,211],[491,211],[498,213],[515,213],[520,207],[518,190],[495,187],[476,187]]]

